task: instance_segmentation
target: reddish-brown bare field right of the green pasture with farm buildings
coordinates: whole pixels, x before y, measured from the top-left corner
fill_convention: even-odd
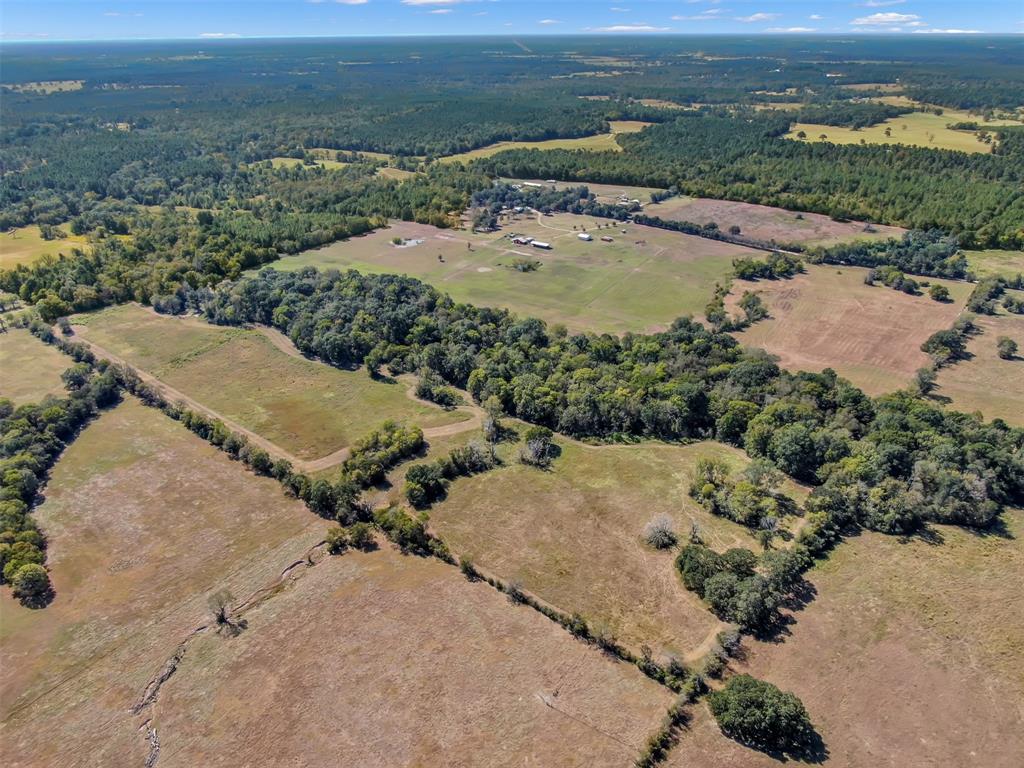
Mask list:
[[[929,364],[921,344],[934,332],[952,326],[971,293],[968,283],[943,283],[953,301],[942,304],[927,294],[909,296],[885,286],[865,286],[864,269],[814,266],[792,280],[736,281],[726,299],[735,302],[755,291],[770,317],[736,338],[777,354],[791,371],[835,369],[865,392],[899,389]]]

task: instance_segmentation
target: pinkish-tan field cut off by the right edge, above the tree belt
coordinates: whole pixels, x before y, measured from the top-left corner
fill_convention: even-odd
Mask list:
[[[995,349],[996,340],[1009,336],[1024,350],[1024,315],[978,315],[976,323],[982,333],[973,337],[967,347],[974,356],[942,369],[935,394],[948,397],[949,407],[957,411],[980,411],[986,419],[999,418],[1024,426],[1024,351],[1005,360]]]

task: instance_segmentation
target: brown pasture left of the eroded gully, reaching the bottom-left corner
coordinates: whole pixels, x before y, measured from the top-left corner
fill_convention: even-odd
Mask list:
[[[272,583],[327,523],[154,409],[126,399],[85,429],[35,511],[56,596],[0,594],[0,760],[141,765],[129,710],[207,595]]]

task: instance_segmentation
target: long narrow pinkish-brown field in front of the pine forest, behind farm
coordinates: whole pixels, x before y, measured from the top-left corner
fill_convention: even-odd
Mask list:
[[[666,220],[691,221],[707,224],[714,221],[720,229],[738,226],[740,233],[756,240],[780,244],[833,245],[854,240],[885,240],[899,238],[903,229],[876,224],[874,232],[865,232],[859,221],[833,221],[819,213],[797,213],[782,208],[737,203],[729,200],[706,198],[669,198],[646,206],[644,213]]]

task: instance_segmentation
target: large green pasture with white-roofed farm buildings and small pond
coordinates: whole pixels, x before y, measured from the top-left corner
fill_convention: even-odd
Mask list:
[[[757,253],[633,224],[596,231],[607,224],[571,214],[540,220],[524,215],[506,221],[500,233],[474,234],[393,222],[388,229],[289,256],[271,266],[409,274],[458,301],[508,307],[572,330],[622,332],[664,328],[680,315],[702,311],[715,283],[731,270],[732,259]],[[594,240],[580,241],[573,225],[587,227]],[[511,232],[550,242],[553,250],[515,246],[506,237]],[[601,242],[601,233],[614,242]],[[393,245],[395,237],[407,245]],[[532,272],[511,268],[514,259],[524,257],[543,265]]]

